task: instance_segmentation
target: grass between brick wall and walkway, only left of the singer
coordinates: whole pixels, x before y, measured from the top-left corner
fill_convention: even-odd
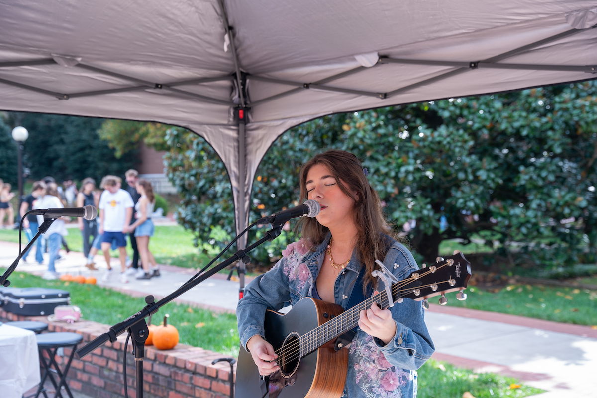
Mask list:
[[[1,271],[4,273],[5,269]],[[72,305],[81,308],[84,319],[110,326],[122,322],[146,305],[143,297],[131,297],[97,285],[44,280],[19,271],[14,272],[10,280],[13,287],[35,286],[69,291]],[[168,303],[153,316],[153,325],[159,325],[164,314],[170,314],[168,323],[178,329],[181,344],[238,356],[240,340],[234,314],[216,314],[201,308]]]

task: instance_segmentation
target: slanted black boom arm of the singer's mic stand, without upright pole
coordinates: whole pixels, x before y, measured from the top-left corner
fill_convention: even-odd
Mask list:
[[[76,350],[76,356],[80,359],[88,353],[90,353],[91,351],[95,350],[97,347],[106,344],[108,341],[110,341],[110,343],[114,343],[118,339],[119,335],[124,333],[128,328],[131,328],[131,326],[134,326],[137,322],[141,322],[141,320],[143,320],[150,314],[155,314],[156,312],[158,312],[159,308],[170,303],[170,301],[179,297],[181,294],[188,291],[190,288],[193,288],[193,286],[198,285],[199,283],[203,282],[205,279],[217,273],[218,271],[223,270],[224,268],[232,264],[234,261],[240,260],[247,254],[247,252],[250,252],[251,250],[253,250],[254,248],[256,248],[264,242],[272,241],[273,239],[278,237],[281,232],[281,225],[273,226],[271,230],[266,232],[264,237],[262,237],[257,242],[253,243],[253,245],[249,246],[247,249],[235,252],[235,254],[233,254],[232,257],[229,257],[227,258],[227,260],[222,261],[220,264],[213,267],[211,270],[207,271],[206,273],[202,274],[196,279],[184,283],[184,285],[180,286],[180,288],[176,289],[176,291],[172,292],[167,297],[162,298],[162,300],[158,301],[158,303],[148,303],[148,305],[144,307],[143,310],[137,312],[128,319],[125,319],[121,323],[117,323],[116,325],[112,326],[109,332],[100,335],[99,337],[95,338],[94,340],[85,344],[83,347]]]

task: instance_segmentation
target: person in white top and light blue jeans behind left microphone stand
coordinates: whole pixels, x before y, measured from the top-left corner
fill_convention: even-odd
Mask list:
[[[64,208],[62,201],[60,200],[60,194],[58,192],[56,183],[50,183],[46,187],[45,195],[39,199],[39,202],[36,203],[36,208],[39,209],[61,209]],[[44,216],[38,215],[38,224],[41,225],[44,223]],[[54,262],[56,261],[56,257],[58,255],[58,251],[60,249],[60,242],[63,236],[68,235],[66,230],[66,226],[64,225],[64,218],[60,217],[54,220],[48,230],[44,233],[45,240],[48,246],[48,252],[50,254],[50,258],[48,260],[48,270],[44,272],[42,276],[44,279],[56,279],[59,274],[56,272],[56,267],[54,266]]]

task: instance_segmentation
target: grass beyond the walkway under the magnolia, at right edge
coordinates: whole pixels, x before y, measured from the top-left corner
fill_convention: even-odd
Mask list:
[[[513,314],[576,325],[597,325],[597,291],[543,285],[509,285],[498,292],[469,286],[466,301],[448,294],[448,306]],[[435,301],[435,298],[431,301]]]

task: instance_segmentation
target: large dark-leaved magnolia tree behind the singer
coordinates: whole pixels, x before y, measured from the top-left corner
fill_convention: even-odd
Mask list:
[[[250,221],[297,205],[300,165],[344,149],[362,159],[389,221],[424,260],[435,260],[444,239],[481,237],[512,265],[594,261],[596,94],[595,82],[584,82],[308,122],[278,138],[261,162]],[[165,135],[180,223],[198,242],[226,243],[234,216],[223,163],[201,137],[155,126],[137,139]],[[295,237],[291,229],[253,257],[267,264]]]

